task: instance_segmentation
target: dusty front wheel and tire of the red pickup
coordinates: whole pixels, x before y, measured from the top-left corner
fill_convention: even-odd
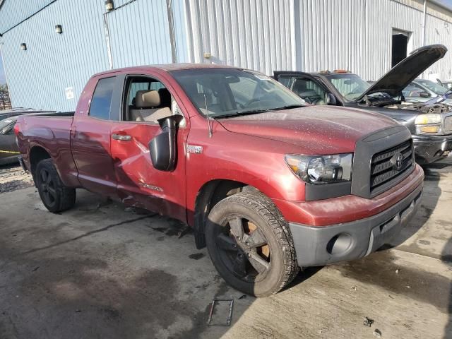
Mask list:
[[[234,194],[210,210],[206,244],[222,278],[248,295],[273,295],[299,270],[287,221],[258,191]]]

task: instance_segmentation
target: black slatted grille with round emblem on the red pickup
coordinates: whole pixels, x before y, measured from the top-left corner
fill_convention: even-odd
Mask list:
[[[397,168],[396,159],[394,159],[394,155],[398,155],[399,153],[403,155],[400,162],[400,169]],[[403,177],[403,174],[412,168],[413,163],[414,154],[411,140],[376,153],[371,160],[371,193]]]

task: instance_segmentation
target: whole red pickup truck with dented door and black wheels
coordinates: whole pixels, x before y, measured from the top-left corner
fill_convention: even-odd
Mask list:
[[[99,73],[74,117],[19,117],[15,131],[49,211],[71,208],[84,188],[182,220],[222,278],[259,297],[299,267],[375,251],[422,196],[405,126],[354,108],[307,107],[244,69]]]

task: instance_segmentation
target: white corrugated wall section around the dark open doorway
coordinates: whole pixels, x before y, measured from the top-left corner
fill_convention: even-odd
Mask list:
[[[300,71],[348,69],[376,80],[391,69],[393,28],[411,32],[411,50],[422,45],[422,11],[398,1],[336,0],[331,11],[329,0],[304,0],[296,2],[295,11],[300,18],[295,30],[301,44]],[[451,49],[429,69],[443,79],[451,77],[452,67],[452,25],[447,29],[444,23],[427,15],[426,44]]]

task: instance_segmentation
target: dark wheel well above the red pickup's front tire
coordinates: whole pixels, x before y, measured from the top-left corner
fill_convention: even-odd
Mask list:
[[[201,187],[196,196],[194,211],[194,231],[197,249],[206,247],[204,228],[207,217],[213,206],[222,201],[222,199],[227,198],[227,196],[232,196],[233,194],[247,190],[257,191],[253,186],[249,186],[243,182],[235,182],[233,180],[213,180]]]

